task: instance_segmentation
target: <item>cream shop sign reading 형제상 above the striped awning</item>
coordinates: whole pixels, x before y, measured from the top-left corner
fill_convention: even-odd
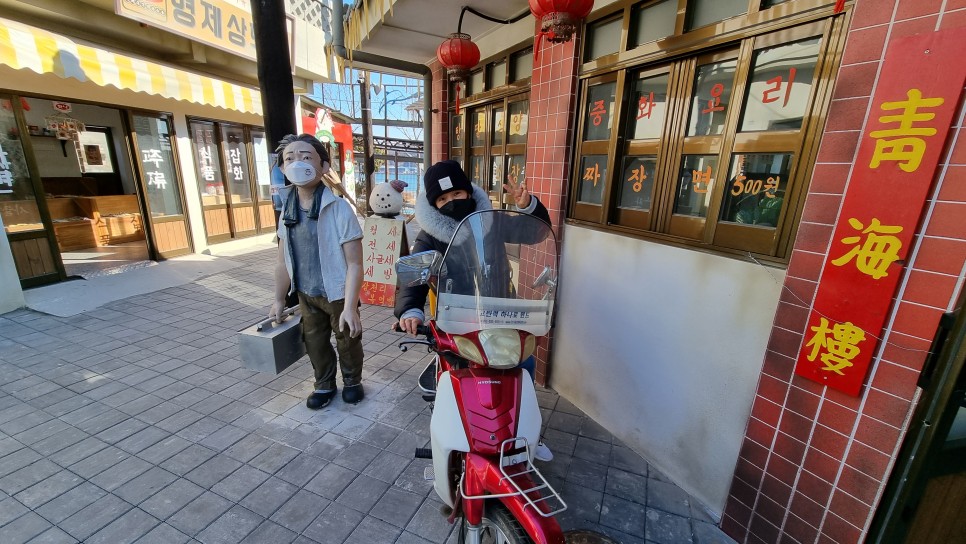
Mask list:
[[[232,0],[114,0],[114,12],[255,60],[251,8]]]

